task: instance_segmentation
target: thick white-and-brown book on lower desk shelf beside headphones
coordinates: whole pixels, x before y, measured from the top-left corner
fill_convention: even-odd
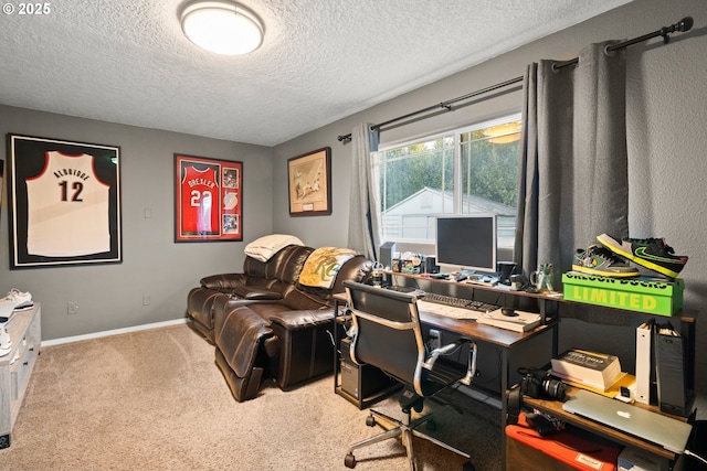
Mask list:
[[[619,357],[570,349],[550,361],[552,375],[579,386],[606,390],[624,375]]]

